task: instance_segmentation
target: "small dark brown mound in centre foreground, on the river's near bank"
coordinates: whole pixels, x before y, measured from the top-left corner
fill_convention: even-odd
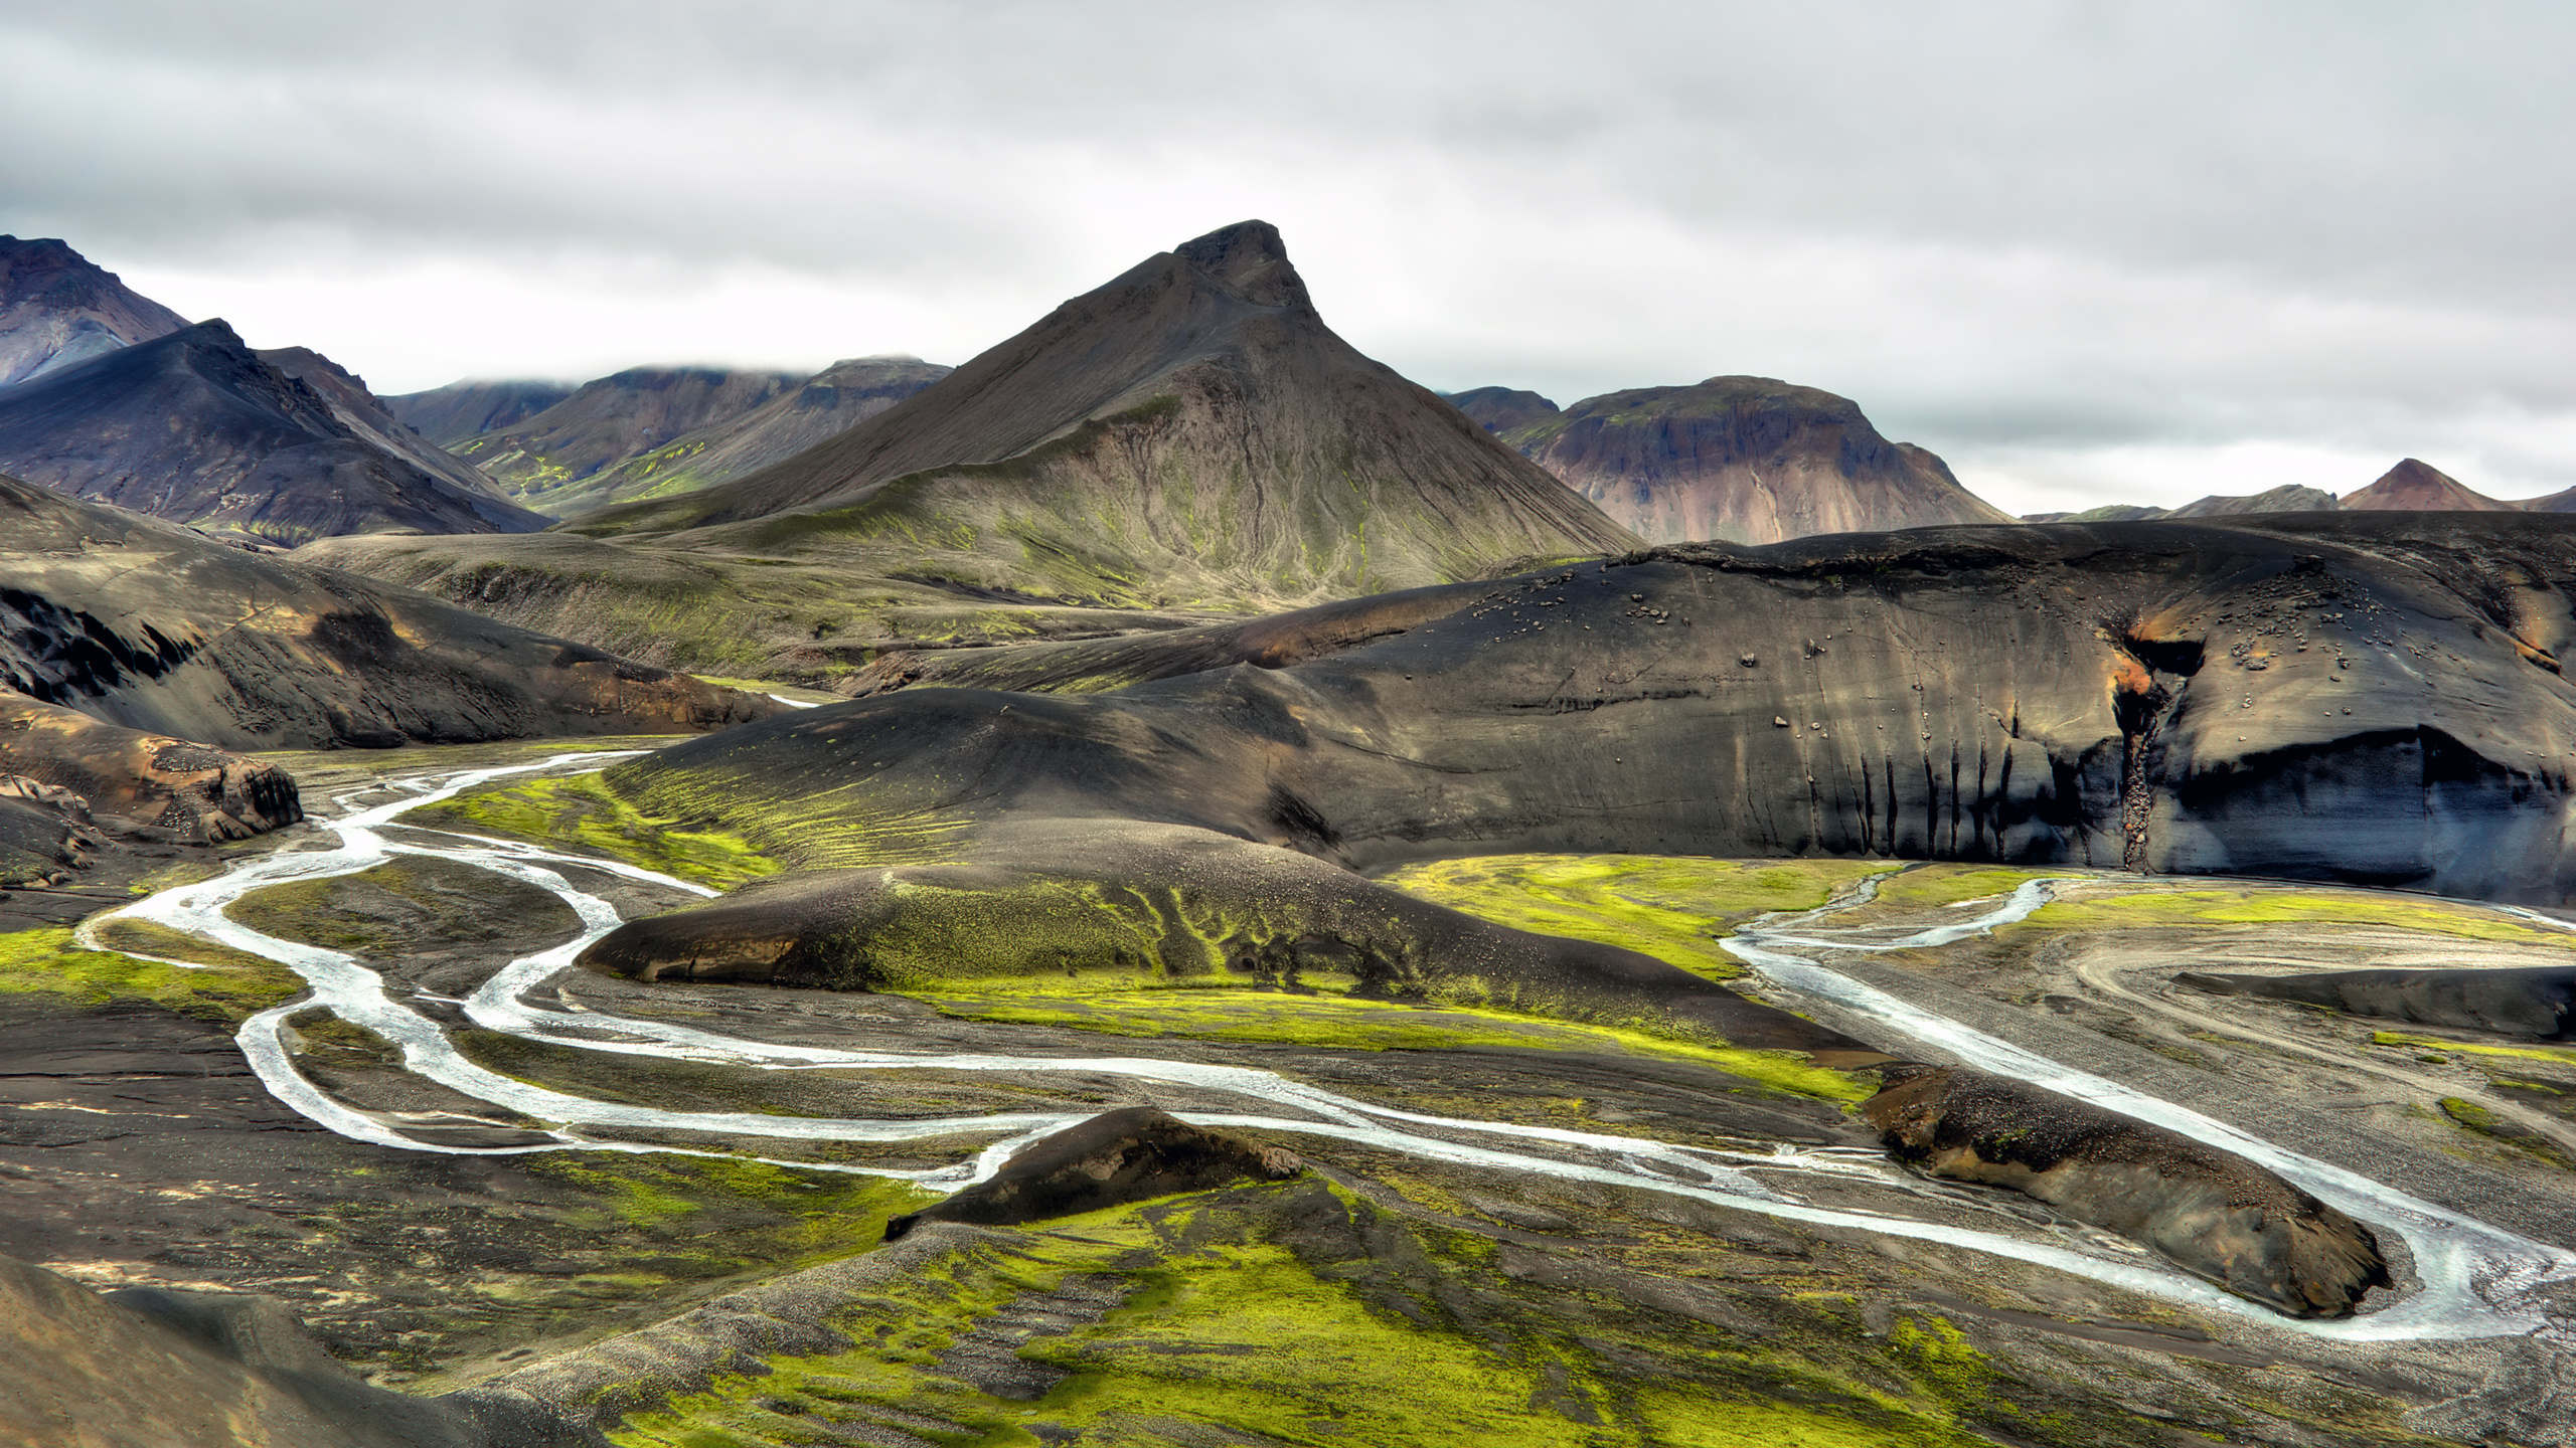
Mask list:
[[[1020,1226],[1242,1180],[1275,1183],[1303,1170],[1293,1152],[1200,1131],[1151,1105],[1100,1116],[1030,1141],[981,1183],[886,1221],[886,1242],[925,1221]]]

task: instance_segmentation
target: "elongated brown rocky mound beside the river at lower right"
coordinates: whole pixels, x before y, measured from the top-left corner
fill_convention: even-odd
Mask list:
[[[1935,1177],[2030,1193],[2293,1317],[2388,1286],[2367,1226],[2190,1136],[1965,1067],[1886,1067],[1862,1113]]]

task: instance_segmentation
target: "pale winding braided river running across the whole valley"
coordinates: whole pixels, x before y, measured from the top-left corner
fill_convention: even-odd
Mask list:
[[[276,884],[348,876],[381,866],[397,855],[430,855],[461,866],[495,871],[533,884],[562,899],[580,917],[582,930],[572,940],[549,951],[523,956],[495,971],[464,1002],[451,1002],[464,1015],[487,1028],[533,1041],[580,1046],[587,1051],[618,1051],[636,1056],[721,1062],[750,1069],[943,1069],[943,1072],[1007,1072],[1012,1077],[1128,1077],[1136,1082],[1172,1082],[1203,1092],[1226,1092],[1244,1100],[1242,1113],[1177,1110],[1200,1126],[1231,1126],[1324,1136],[1355,1141],[1376,1149],[1404,1152],[1422,1159],[1479,1167],[1492,1172],[1538,1172],[1548,1177],[1605,1183],[1698,1198],[1705,1203],[1767,1214],[1788,1221],[1819,1226],[1860,1229],[1888,1237],[1942,1242],[1976,1252],[2056,1268],[2079,1278],[2151,1293],[2200,1311],[2236,1319],[2267,1322],[2272,1327],[2334,1337],[2334,1340],[2463,1340],[2524,1335],[2545,1327],[2545,1317],[2532,1299],[2540,1283],[2576,1278],[2576,1252],[2532,1242],[2499,1226],[2476,1221],[2439,1203],[2419,1201],[2388,1185],[2372,1183],[2352,1170],[2303,1157],[2251,1136],[2223,1121],[2213,1121],[2190,1108],[2143,1095],[2120,1082],[2061,1067],[2022,1046],[1973,1031],[1958,1020],[1922,1010],[1906,1000],[1862,984],[1819,964],[1816,953],[1832,951],[1899,951],[1958,943],[1996,925],[2027,917],[2050,899],[2056,881],[2022,884],[2009,899],[1963,920],[1891,935],[1886,930],[1837,930],[1834,915],[1862,904],[1870,889],[1837,899],[1821,910],[1762,917],[1726,940],[1726,948],[1759,971],[1767,982],[1801,997],[1829,1002],[1875,1025],[1888,1049],[1899,1043],[1929,1046],[1976,1067],[2020,1077],[2048,1090],[2092,1100],[2107,1110],[2151,1121],[2213,1147],[2244,1154],[2280,1172],[2316,1198],[2370,1221],[2380,1232],[2393,1232],[2406,1242],[2414,1265],[2414,1288],[2375,1311],[2339,1322],[2298,1322],[2269,1309],[2236,1299],[2200,1278],[2174,1273],[2141,1255],[2123,1255],[2110,1244],[2097,1244],[2084,1234],[2030,1229],[2027,1234],[1984,1232],[1947,1221],[1919,1221],[1896,1214],[1852,1211],[1816,1206],[1801,1196],[1801,1183],[1821,1185],[1826,1177],[1868,1180],[1904,1193],[1917,1188],[1896,1165],[1850,1149],[1790,1149],[1775,1152],[1718,1152],[1703,1147],[1677,1147],[1636,1136],[1602,1136],[1553,1126],[1522,1126],[1504,1121],[1468,1121],[1448,1116],[1422,1116],[1373,1105],[1329,1090],[1319,1090],[1291,1077],[1262,1069],[1172,1062],[1154,1056],[1010,1056],[1010,1054],[927,1054],[927,1051],[850,1051],[827,1046],[788,1046],[739,1036],[721,1036],[672,1025],[662,1020],[636,1020],[595,1010],[556,1010],[536,1002],[572,958],[592,940],[618,925],[618,912],[600,897],[577,889],[559,866],[582,871],[608,871],[636,881],[688,894],[714,894],[703,886],[670,879],[636,866],[600,861],[590,855],[564,855],[544,848],[487,840],[474,835],[443,835],[402,824],[402,837],[389,837],[394,819],[422,804],[456,796],[482,783],[523,776],[600,768],[623,752],[554,755],[533,765],[459,768],[420,776],[389,778],[332,801],[332,814],[314,819],[332,843],[299,840],[234,863],[224,876],[165,889],[116,912],[82,925],[85,943],[98,946],[95,930],[106,920],[147,920],[178,930],[188,938],[229,946],[278,961],[312,984],[309,1000],[263,1010],[242,1023],[240,1046],[252,1069],[307,1118],[358,1141],[415,1152],[556,1152],[556,1149],[611,1149],[611,1152],[670,1152],[672,1147],[647,1147],[618,1139],[600,1139],[595,1131],[693,1131],[714,1141],[757,1152],[760,1141],[927,1141],[958,1134],[989,1134],[992,1141],[966,1159],[935,1170],[886,1167],[819,1167],[809,1170],[860,1170],[886,1177],[914,1180],[925,1188],[953,1190],[994,1172],[1023,1144],[1072,1126],[1097,1108],[1061,1113],[994,1113],[994,1116],[935,1116],[935,1118],[799,1118],[765,1113],[703,1113],[654,1110],[590,1100],[582,1095],[536,1087],[469,1062],[446,1036],[446,1028],[407,1000],[397,1000],[384,976],[366,961],[343,951],[278,940],[250,930],[224,915],[224,907],[245,894]],[[106,946],[100,946],[106,948]],[[188,964],[188,961],[173,961]],[[404,1067],[415,1074],[546,1123],[546,1136],[533,1144],[510,1147],[459,1147],[435,1144],[404,1134],[394,1123],[355,1110],[312,1085],[289,1054],[286,1018],[325,1007],[337,1018],[363,1025],[404,1054]],[[724,1154],[724,1152],[708,1152]]]

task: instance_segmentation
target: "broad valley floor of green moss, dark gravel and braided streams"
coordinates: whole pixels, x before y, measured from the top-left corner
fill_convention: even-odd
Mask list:
[[[381,1384],[505,1381],[634,1445],[2568,1440],[2532,1415],[2576,1314],[2576,1046],[2174,982],[2558,966],[2555,920],[1899,861],[1383,876],[2357,1177],[2398,1281],[2293,1322],[1893,1165],[1852,1113],[1873,1087],[1785,1054],[1226,979],[564,971],[768,868],[585,791],[616,747],[299,757],[314,822],[227,850],[229,884],[0,935],[0,1252],[273,1293]],[[876,1247],[987,1149],[1113,1105],[1309,1172]],[[665,1322],[708,1301],[773,1324],[768,1371]]]

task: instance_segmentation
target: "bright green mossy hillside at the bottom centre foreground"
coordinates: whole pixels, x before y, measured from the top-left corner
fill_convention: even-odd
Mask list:
[[[1077,1273],[1123,1278],[1128,1296],[1097,1324],[1020,1348],[1066,1373],[1041,1399],[997,1399],[943,1371],[981,1319]],[[1847,1314],[1785,1299],[1772,1311],[1795,1329],[1762,1342],[1708,1324],[1641,1329],[1600,1296],[1512,1283],[1486,1237],[1399,1224],[1316,1185],[1247,1188],[951,1252],[835,1322],[858,1350],[770,1358],[757,1376],[629,1417],[611,1440],[819,1443],[902,1422],[961,1445],[1064,1433],[1388,1448],[1981,1443],[1940,1386],[1906,1371],[1922,1358],[1911,1348],[1870,1342]],[[1940,1368],[1958,1373],[1955,1360]],[[1994,1402],[1978,1415],[2030,1420]]]

